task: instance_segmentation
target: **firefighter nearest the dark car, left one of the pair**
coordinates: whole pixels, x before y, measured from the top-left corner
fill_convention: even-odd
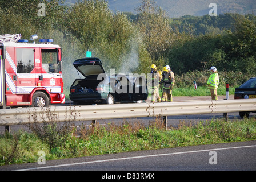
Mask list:
[[[155,102],[155,99],[157,99],[157,102],[161,101],[161,97],[159,96],[159,81],[161,80],[160,74],[157,71],[157,66],[155,64],[151,65],[151,102]]]

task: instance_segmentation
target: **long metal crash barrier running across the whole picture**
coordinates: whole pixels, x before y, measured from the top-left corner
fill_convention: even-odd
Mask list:
[[[154,117],[171,115],[231,113],[256,111],[256,99],[201,100],[140,104],[50,106],[0,110],[0,126],[25,125],[47,121],[56,116],[58,122],[96,121],[100,119]],[[166,122],[165,122],[166,124]]]

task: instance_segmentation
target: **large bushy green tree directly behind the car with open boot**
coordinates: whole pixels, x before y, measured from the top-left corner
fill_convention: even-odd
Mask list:
[[[114,14],[106,1],[77,2],[67,17],[67,28],[85,49],[102,58],[106,71],[121,71],[123,64],[130,61],[127,57],[138,55],[136,28],[124,13]]]

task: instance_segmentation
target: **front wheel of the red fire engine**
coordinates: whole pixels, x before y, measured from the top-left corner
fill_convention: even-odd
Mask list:
[[[48,107],[49,98],[43,92],[35,92],[33,95],[32,107]]]

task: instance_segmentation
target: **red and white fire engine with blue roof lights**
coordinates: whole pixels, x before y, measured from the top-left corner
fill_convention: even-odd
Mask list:
[[[0,107],[64,103],[61,47],[53,39],[0,35]]]

